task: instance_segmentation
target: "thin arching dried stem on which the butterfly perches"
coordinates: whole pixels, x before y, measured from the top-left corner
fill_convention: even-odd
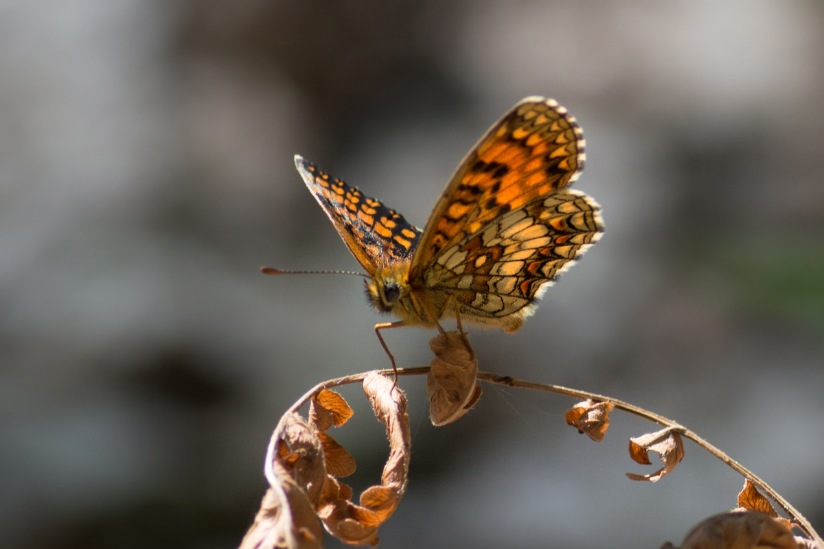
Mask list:
[[[419,366],[414,368],[399,368],[397,370],[397,375],[425,375],[428,373],[428,371],[428,366]],[[289,407],[288,412],[284,414],[283,417],[288,416],[292,412],[297,412],[297,410],[299,410],[304,404],[309,402],[312,396],[321,391],[321,389],[339,387],[341,385],[347,384],[361,383],[363,382],[363,379],[366,378],[368,373],[369,372],[363,372],[360,374],[347,375],[341,378],[329,379],[328,381],[324,381],[321,384],[317,384],[315,387],[307,391],[307,393],[305,393],[301,398],[299,398],[297,402],[295,402],[292,405],[292,407]],[[393,370],[381,370],[379,373],[382,375],[394,374]],[[784,500],[784,498],[778,492],[773,490],[773,488],[769,484],[761,480],[760,477],[757,477],[755,473],[743,467],[741,463],[738,463],[733,458],[730,458],[723,451],[716,448],[714,445],[709,444],[709,442],[702,439],[699,435],[687,429],[685,426],[682,426],[677,421],[672,421],[664,416],[659,416],[656,413],[644,410],[644,408],[634,406],[629,402],[623,402],[617,400],[616,398],[605,397],[603,395],[596,393],[588,393],[587,391],[579,391],[578,389],[574,388],[562,387],[560,385],[534,383],[531,381],[524,381],[522,379],[509,377],[507,375],[490,374],[488,372],[478,372],[478,379],[486,381],[487,383],[507,385],[508,387],[531,388],[539,391],[545,391],[547,393],[563,394],[573,398],[589,398],[596,402],[610,402],[613,406],[620,410],[623,410],[624,412],[629,412],[631,414],[634,414],[635,416],[644,417],[644,419],[654,421],[655,423],[665,426],[668,429],[677,431],[681,436],[692,440],[693,442],[695,442],[695,444],[698,444],[701,448],[709,452],[709,454],[712,454],[716,458],[719,458],[723,463],[726,463],[729,467],[733,468],[733,470],[741,474],[742,477],[749,479],[750,482],[752,482],[762,493],[769,496],[771,500],[775,501],[775,503],[784,511],[784,513],[788,515],[789,519],[793,521],[793,523],[797,524],[798,528],[801,528],[803,533],[805,533],[808,537],[815,540],[815,542],[817,542],[821,547],[824,547],[824,541],[822,541],[822,538],[819,537],[815,529],[812,528],[812,524],[810,524],[809,521],[804,518],[803,514],[799,513],[798,510],[793,507],[793,505],[790,505],[789,501]],[[276,443],[277,440],[275,440],[275,438],[273,437],[273,439],[269,441],[269,449],[266,455],[265,472],[269,482],[272,482],[274,478],[274,473],[272,473],[269,469],[270,463],[273,463]]]

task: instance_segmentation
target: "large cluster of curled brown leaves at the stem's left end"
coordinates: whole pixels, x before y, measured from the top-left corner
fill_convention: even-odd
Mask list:
[[[241,549],[322,547],[321,524],[351,545],[377,545],[377,528],[406,488],[410,428],[405,395],[391,379],[373,372],[363,380],[363,391],[389,437],[381,484],[363,491],[356,504],[352,488],[338,480],[354,472],[355,461],[326,430],[344,425],[352,409],[338,393],[323,389],[311,399],[308,421],[289,413],[272,435],[269,490]]]

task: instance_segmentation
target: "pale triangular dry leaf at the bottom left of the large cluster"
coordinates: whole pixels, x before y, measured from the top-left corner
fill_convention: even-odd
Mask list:
[[[274,465],[277,486],[266,491],[255,522],[243,537],[240,549],[315,549],[323,547],[323,530],[315,506],[290,477],[286,468]]]

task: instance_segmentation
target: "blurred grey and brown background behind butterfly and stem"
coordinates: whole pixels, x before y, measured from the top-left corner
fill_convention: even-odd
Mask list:
[[[480,369],[681,421],[824,529],[820,2],[0,1],[0,546],[236,547],[283,410],[384,368],[300,153],[423,226],[526,95],[581,123],[606,235]],[[400,366],[434,332],[394,330]],[[384,547],[659,547],[742,478],[686,444],[657,484],[614,413],[485,387],[442,428],[410,397]],[[358,387],[331,434],[379,482]],[[329,547],[340,547],[327,537]]]

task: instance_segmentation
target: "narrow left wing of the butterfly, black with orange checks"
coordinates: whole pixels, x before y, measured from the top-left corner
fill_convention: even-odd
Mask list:
[[[378,265],[412,257],[422,233],[419,228],[302,156],[295,156],[295,165],[340,238],[368,274],[374,276]]]

